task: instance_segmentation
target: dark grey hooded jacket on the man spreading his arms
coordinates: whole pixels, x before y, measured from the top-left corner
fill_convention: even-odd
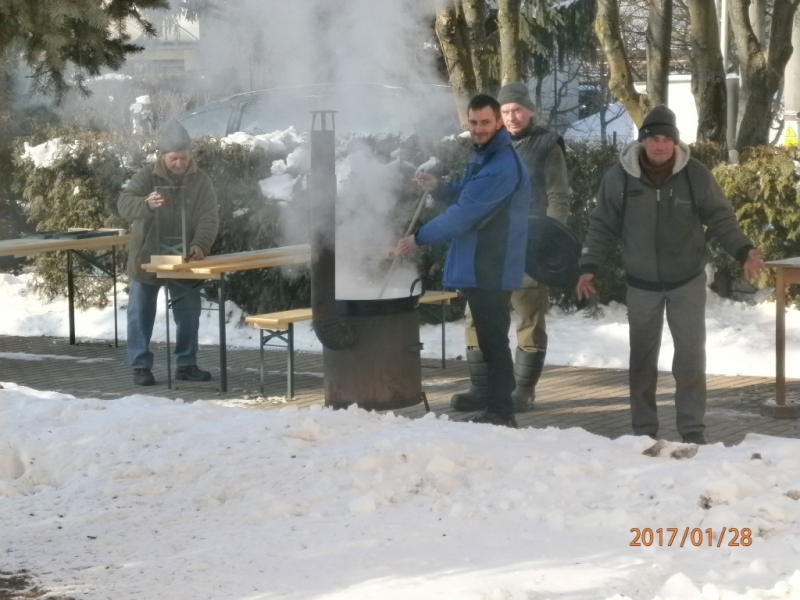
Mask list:
[[[620,162],[600,184],[581,271],[596,273],[618,240],[628,284],[642,289],[674,289],[699,275],[710,258],[706,237],[744,261],[753,243],[714,176],[690,157],[689,147],[675,146],[675,167],[661,187],[642,174],[640,152],[639,142],[623,147]]]

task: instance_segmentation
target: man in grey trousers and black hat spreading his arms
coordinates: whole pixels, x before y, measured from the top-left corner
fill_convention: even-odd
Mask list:
[[[633,432],[658,435],[656,382],[664,311],[675,345],[677,429],[684,442],[704,444],[706,409],[706,235],[716,239],[754,277],[761,250],[742,232],[711,172],[689,156],[675,113],[657,106],[644,119],[639,141],[622,148],[620,162],[600,184],[583,245],[578,298],[595,293],[592,279],[622,241],[630,326]]]

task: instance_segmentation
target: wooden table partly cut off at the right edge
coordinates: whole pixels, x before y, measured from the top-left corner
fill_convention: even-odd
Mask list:
[[[786,286],[800,283],[800,257],[766,263],[775,269],[775,404],[762,404],[761,414],[776,419],[800,417],[800,404],[786,402]]]

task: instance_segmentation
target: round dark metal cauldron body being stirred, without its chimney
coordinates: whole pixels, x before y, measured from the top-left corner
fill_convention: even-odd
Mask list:
[[[343,350],[323,347],[327,406],[392,410],[422,402],[422,290],[415,293],[414,287],[400,298],[336,300],[336,314],[353,329],[356,342]]]

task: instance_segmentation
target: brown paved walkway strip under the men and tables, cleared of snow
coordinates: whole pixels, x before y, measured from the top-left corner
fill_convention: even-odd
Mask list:
[[[289,404],[298,407],[319,404],[323,399],[322,357],[297,353],[295,359],[295,398],[287,402],[286,354],[267,352],[266,394],[259,393],[258,350],[228,351],[228,387],[218,391],[218,354],[215,346],[200,350],[199,364],[211,370],[214,381],[189,383],[173,381],[166,386],[166,363],[163,346],[155,345],[158,382],[150,388],[133,385],[124,344],[84,340],[70,346],[66,339],[0,336],[0,381],[13,381],[42,390],[54,390],[77,397],[114,399],[131,394],[149,394],[185,401],[216,400],[259,410]],[[26,360],[31,355],[49,358]],[[466,389],[469,375],[465,361],[449,360],[441,369],[437,359],[423,360],[423,390],[431,410],[463,420],[472,413],[453,411],[450,397]],[[579,367],[545,367],[537,387],[536,406],[532,412],[517,416],[521,427],[581,427],[610,438],[631,433],[628,409],[626,370]],[[678,440],[673,407],[674,384],[669,373],[662,373],[658,387],[661,431],[659,437]],[[800,382],[788,384],[789,398],[800,396]],[[740,442],[747,433],[800,438],[800,422],[762,417],[760,405],[775,397],[774,379],[760,377],[708,377],[706,437],[709,442]],[[417,418],[425,413],[422,403],[395,411]]]

